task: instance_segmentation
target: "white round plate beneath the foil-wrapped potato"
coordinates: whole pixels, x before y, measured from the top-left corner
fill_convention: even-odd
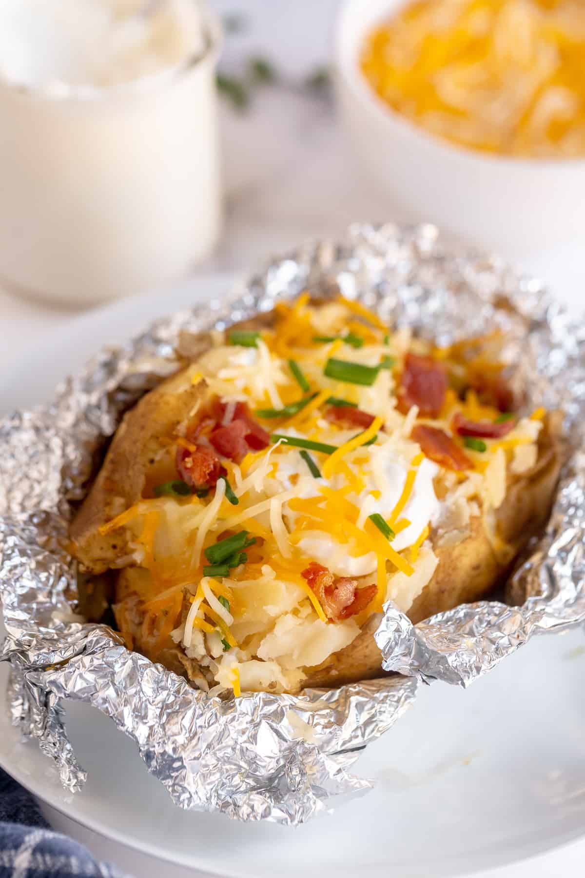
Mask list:
[[[106,342],[153,316],[225,292],[229,276],[198,277],[172,296],[125,300],[52,332],[11,364],[0,410],[50,396],[54,383]],[[4,687],[6,668],[0,670]],[[585,827],[585,641],[581,630],[541,637],[464,692],[435,684],[355,767],[376,782],[299,829],[238,824],[185,812],[105,716],[67,707],[68,730],[89,778],[65,793],[33,742],[0,710],[0,765],[76,822],[176,864],[238,878],[357,874],[467,874],[578,838]],[[170,874],[161,867],[160,874]]]

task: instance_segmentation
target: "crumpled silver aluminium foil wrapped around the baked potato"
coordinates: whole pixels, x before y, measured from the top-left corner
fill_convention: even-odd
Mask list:
[[[210,698],[128,651],[105,625],[75,615],[68,555],[70,504],[82,500],[121,415],[175,371],[182,330],[223,329],[304,289],[341,291],[389,323],[446,344],[502,328],[513,379],[532,402],[561,407],[570,438],[546,534],[517,568],[521,606],[461,606],[413,626],[391,602],[376,632],[398,672],[298,696]],[[430,226],[351,227],[346,241],[308,244],[275,259],[227,300],[158,320],[103,349],[54,401],[0,423],[0,587],[11,664],[12,721],[37,738],[70,790],[85,774],[61,702],[89,702],[133,738],[148,770],[185,809],[300,824],[371,783],[350,774],[360,749],[396,722],[418,680],[467,686],[533,634],[585,619],[585,322],[571,320],[537,281],[481,255],[446,250]],[[400,675],[398,675],[400,674]]]

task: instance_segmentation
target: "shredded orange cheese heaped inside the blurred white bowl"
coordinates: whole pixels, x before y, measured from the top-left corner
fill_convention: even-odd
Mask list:
[[[417,0],[375,26],[360,66],[428,133],[502,155],[585,155],[585,8],[574,0]]]

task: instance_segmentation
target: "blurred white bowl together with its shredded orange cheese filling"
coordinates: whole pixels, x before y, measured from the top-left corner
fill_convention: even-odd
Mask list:
[[[506,255],[583,234],[580,0],[346,0],[336,66],[392,205]]]

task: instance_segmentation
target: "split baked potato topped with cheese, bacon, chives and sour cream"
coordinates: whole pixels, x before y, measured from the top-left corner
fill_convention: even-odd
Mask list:
[[[382,674],[385,601],[417,623],[488,594],[560,468],[559,417],[515,412],[503,342],[439,349],[306,294],[183,338],[70,531],[129,647],[214,694],[297,692]]]

